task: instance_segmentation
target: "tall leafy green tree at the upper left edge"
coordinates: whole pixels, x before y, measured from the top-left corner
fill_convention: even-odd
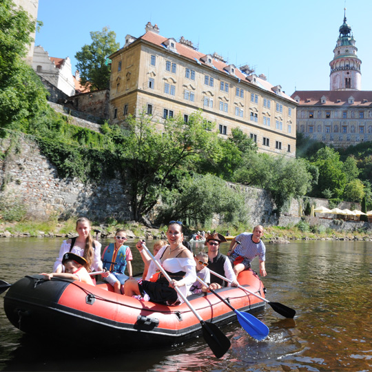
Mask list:
[[[23,61],[35,22],[11,0],[0,3],[0,125],[29,119],[46,110],[47,92]]]

